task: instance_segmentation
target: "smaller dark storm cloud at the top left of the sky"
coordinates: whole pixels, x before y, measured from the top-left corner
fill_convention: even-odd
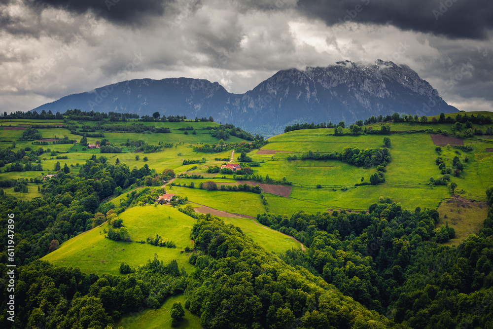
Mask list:
[[[163,15],[169,0],[25,0],[36,9],[65,9],[76,14],[88,11],[117,24],[142,23],[147,16]]]

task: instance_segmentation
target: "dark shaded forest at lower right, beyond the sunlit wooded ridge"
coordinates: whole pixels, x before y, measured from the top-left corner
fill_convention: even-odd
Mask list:
[[[488,188],[490,205],[493,186]],[[458,247],[437,243],[453,234],[435,228],[435,209],[374,204],[368,214],[334,211],[259,222],[309,247],[281,258],[302,266],[345,295],[411,328],[493,328],[493,207],[484,228]]]

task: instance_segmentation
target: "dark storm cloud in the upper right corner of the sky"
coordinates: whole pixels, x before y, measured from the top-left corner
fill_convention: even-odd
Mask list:
[[[493,28],[491,0],[299,0],[298,8],[328,25],[389,24],[450,38],[483,39]]]

